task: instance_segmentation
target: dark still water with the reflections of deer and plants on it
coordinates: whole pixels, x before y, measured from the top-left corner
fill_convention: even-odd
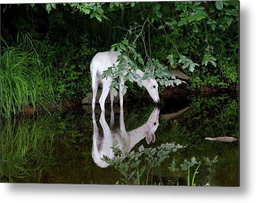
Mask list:
[[[1,182],[239,185],[239,142],[205,139],[238,139],[237,96],[125,105],[112,118],[110,106],[93,115],[88,105],[3,121]],[[113,140],[120,157],[111,162]]]

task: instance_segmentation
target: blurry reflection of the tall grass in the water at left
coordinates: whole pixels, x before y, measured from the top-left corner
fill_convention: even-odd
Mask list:
[[[52,154],[51,117],[6,119],[1,123],[1,182],[39,182]]]

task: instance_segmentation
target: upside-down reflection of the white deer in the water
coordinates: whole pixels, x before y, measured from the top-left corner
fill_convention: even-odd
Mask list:
[[[103,155],[109,157],[110,159],[114,157],[114,153],[111,149],[113,147],[113,141],[117,140],[120,150],[122,150],[123,155],[125,152],[129,152],[135,144],[137,144],[141,139],[146,138],[146,142],[149,144],[151,141],[155,141],[155,131],[158,127],[159,109],[155,108],[149,119],[142,126],[130,130],[129,132],[125,129],[124,123],[124,111],[120,108],[120,128],[110,129],[105,120],[104,111],[101,112],[100,124],[103,129],[103,133],[100,134],[98,126],[95,119],[95,112],[92,112],[92,122],[93,122],[93,144],[92,144],[92,158],[93,161],[100,167],[107,167],[109,164],[102,161]],[[111,121],[110,126],[114,126],[114,111],[111,111]]]

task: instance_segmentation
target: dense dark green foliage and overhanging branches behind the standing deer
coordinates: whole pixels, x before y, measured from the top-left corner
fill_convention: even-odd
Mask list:
[[[137,77],[134,70],[151,66],[155,75],[145,78],[156,78],[159,89],[183,83],[168,74],[171,68],[190,76],[190,89],[228,88],[238,84],[238,9],[238,1],[10,5],[1,11],[1,36],[10,48],[36,52],[51,82],[37,77],[33,85],[44,89],[45,98],[52,89],[59,102],[91,91],[91,59],[110,49],[126,55],[132,67],[124,77],[120,59],[117,70],[105,72],[114,77],[113,88],[120,78],[131,81]],[[8,47],[2,43],[2,48]]]

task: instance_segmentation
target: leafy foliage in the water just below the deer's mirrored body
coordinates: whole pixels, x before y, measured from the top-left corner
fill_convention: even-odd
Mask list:
[[[120,174],[125,184],[142,184],[140,178],[147,172],[147,179],[144,183],[147,184],[150,171],[154,166],[159,166],[166,158],[169,157],[171,152],[176,152],[178,149],[182,149],[180,144],[165,143],[161,144],[157,148],[144,148],[139,147],[139,152],[131,151],[125,153],[122,156],[122,151],[117,147],[117,141],[113,142],[113,152],[115,156],[112,159],[104,156],[102,158],[110,166],[114,166]]]

